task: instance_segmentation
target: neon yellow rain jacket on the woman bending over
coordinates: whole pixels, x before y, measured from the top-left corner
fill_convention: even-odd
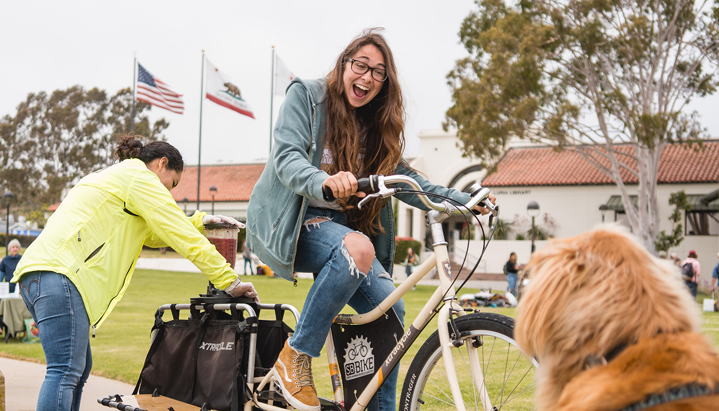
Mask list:
[[[83,177],[25,251],[12,282],[55,271],[77,287],[93,328],[122,298],[142,245],[172,247],[219,289],[237,279],[203,235],[203,212],[189,219],[145,163],[134,158]]]

